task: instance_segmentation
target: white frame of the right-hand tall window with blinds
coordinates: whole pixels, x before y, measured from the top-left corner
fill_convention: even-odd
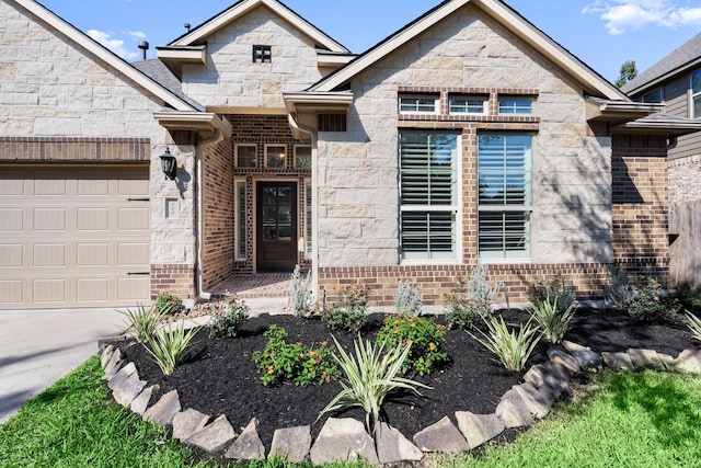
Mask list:
[[[476,136],[476,151],[478,151],[478,187],[480,185],[480,138],[483,135],[495,135],[495,136],[528,136],[530,137],[530,148],[529,155],[525,158],[524,161],[524,175],[525,183],[527,187],[525,189],[528,195],[525,196],[525,203],[522,205],[483,205],[480,203],[480,194],[478,189],[476,194],[476,203],[478,203],[478,224],[476,224],[476,237],[478,237],[478,258],[480,260],[484,260],[487,262],[508,262],[508,261],[530,261],[532,259],[532,240],[533,240],[533,229],[532,229],[532,216],[533,216],[533,147],[536,145],[536,135],[532,133],[517,133],[517,132],[480,132]],[[508,172],[504,173],[504,178],[508,175]],[[525,247],[522,251],[509,251],[506,249],[506,246],[503,247],[501,252],[484,252],[480,246],[481,239],[481,214],[482,213],[501,213],[504,216],[508,213],[522,213],[527,218],[525,219]],[[505,232],[505,231],[504,231]],[[505,237],[505,236],[504,236]]]

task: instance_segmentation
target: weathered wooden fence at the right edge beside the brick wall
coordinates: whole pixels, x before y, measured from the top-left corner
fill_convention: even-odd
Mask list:
[[[701,201],[669,205],[669,241],[673,284],[701,286]]]

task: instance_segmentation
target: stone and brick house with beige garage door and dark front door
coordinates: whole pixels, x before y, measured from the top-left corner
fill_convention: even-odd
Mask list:
[[[0,308],[192,303],[296,264],[377,305],[400,278],[441,304],[478,262],[513,300],[558,275],[600,297],[611,263],[668,272],[667,141],[701,124],[502,1],[443,2],[355,56],[243,0],[158,57],[0,0]]]

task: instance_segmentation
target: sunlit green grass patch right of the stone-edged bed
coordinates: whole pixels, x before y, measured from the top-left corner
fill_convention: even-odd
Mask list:
[[[595,376],[596,392],[559,407],[516,443],[480,456],[434,456],[450,467],[698,467],[701,380],[674,374]]]

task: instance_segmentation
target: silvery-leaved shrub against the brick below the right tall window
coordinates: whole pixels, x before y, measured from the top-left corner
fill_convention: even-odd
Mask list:
[[[472,272],[468,281],[458,278],[458,286],[446,296],[448,326],[456,330],[473,330],[493,313],[497,287],[486,283],[482,264]]]

